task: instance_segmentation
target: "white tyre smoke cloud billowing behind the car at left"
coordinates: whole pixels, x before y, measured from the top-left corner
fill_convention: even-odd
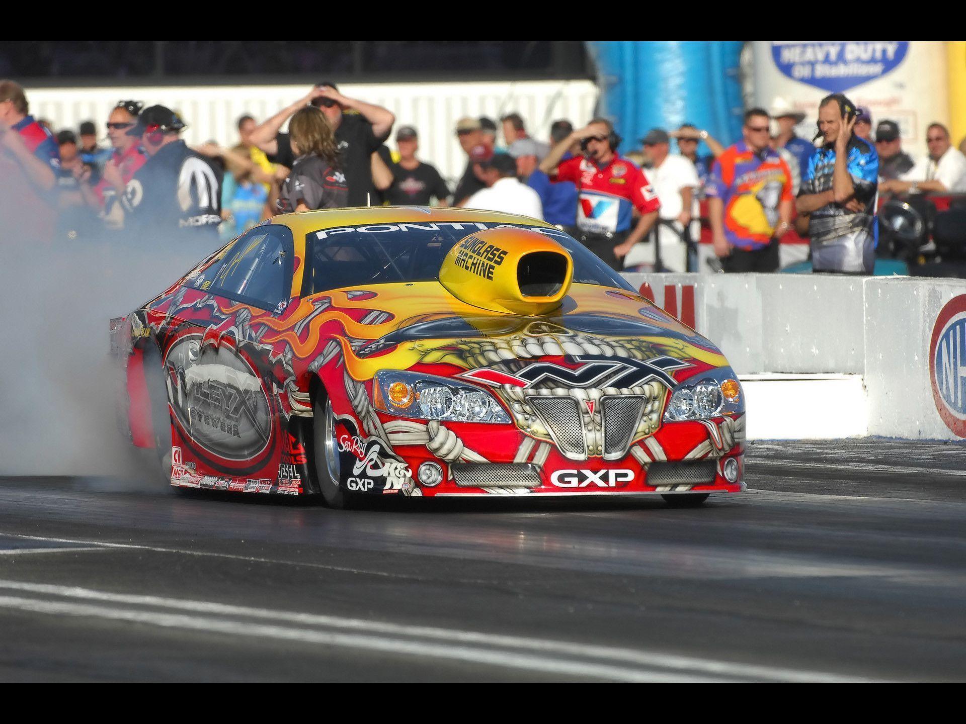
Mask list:
[[[0,179],[3,183],[18,181]],[[46,237],[0,192],[0,475],[149,477],[119,431],[109,320],[213,250],[158,233]],[[215,244],[216,245],[216,244]]]

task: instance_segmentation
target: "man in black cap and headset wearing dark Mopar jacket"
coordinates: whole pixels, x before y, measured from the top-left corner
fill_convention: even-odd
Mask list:
[[[186,127],[163,105],[145,108],[128,135],[142,137],[147,162],[128,181],[121,203],[125,228],[159,241],[218,243],[221,180],[209,162],[179,136]]]

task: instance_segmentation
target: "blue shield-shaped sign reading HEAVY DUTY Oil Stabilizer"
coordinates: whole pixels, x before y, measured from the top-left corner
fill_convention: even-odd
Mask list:
[[[905,41],[773,42],[772,58],[789,78],[844,93],[895,70],[908,49]]]

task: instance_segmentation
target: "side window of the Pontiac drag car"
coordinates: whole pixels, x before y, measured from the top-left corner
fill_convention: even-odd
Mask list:
[[[212,283],[206,289],[273,310],[289,299],[294,253],[288,227],[255,227],[235,241],[216,270],[207,270]]]

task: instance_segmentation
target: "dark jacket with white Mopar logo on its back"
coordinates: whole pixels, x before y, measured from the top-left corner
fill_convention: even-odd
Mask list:
[[[128,181],[125,228],[138,234],[217,238],[221,176],[184,141],[161,147]]]

